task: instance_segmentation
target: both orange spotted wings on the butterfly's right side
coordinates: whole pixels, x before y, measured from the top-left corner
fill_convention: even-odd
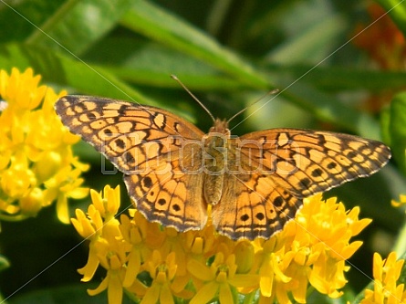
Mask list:
[[[240,137],[239,172],[224,178],[213,225],[231,238],[268,238],[296,214],[304,197],[376,173],[390,159],[381,142],[327,131],[275,129]],[[232,202],[228,204],[227,202]]]

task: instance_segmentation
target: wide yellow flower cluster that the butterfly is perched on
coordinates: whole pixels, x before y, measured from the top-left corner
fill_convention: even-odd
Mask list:
[[[170,304],[187,299],[205,304],[237,303],[240,297],[259,303],[305,303],[309,285],[338,298],[346,284],[345,260],[361,242],[350,243],[370,223],[359,220],[359,208],[346,212],[336,198],[321,194],[305,200],[295,221],[269,240],[234,242],[217,235],[213,225],[178,233],[148,222],[130,209],[115,217],[120,189],[90,191],[93,204],[76,211],[72,224],[90,241],[88,263],[79,269],[89,281],[101,266],[107,271],[98,288],[107,289],[109,303],[120,303],[123,290],[141,303]]]

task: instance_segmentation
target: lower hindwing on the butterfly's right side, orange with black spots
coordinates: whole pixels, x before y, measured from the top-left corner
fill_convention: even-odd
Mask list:
[[[234,174],[225,179],[222,200],[213,206],[213,225],[232,239],[268,238],[295,217],[301,204],[268,175]]]

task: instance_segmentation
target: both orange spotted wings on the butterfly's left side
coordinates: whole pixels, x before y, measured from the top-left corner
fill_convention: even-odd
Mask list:
[[[90,96],[65,96],[57,114],[121,172],[137,209],[179,231],[207,220],[202,199],[200,131],[158,108]],[[191,174],[192,173],[192,174]]]

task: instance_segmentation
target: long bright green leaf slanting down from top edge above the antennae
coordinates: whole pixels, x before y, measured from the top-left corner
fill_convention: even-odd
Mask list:
[[[132,8],[120,23],[145,37],[199,58],[252,88],[269,88],[265,77],[234,52],[150,2],[133,1]]]

